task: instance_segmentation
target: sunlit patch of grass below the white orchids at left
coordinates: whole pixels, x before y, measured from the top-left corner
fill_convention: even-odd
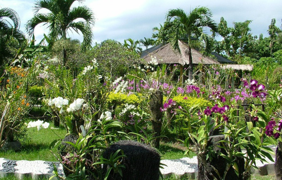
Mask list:
[[[52,152],[57,153],[57,148],[53,148],[50,152],[49,145],[55,139],[64,138],[66,130],[64,128],[52,129],[53,127],[54,125],[50,123],[49,128],[39,131],[35,127],[28,128],[26,138],[20,139],[22,143],[21,151],[0,151],[0,157],[10,160],[57,161],[52,154]]]

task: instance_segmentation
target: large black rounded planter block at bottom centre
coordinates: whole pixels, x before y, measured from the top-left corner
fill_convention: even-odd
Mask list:
[[[118,173],[111,171],[109,180],[158,180],[159,179],[159,162],[160,155],[148,145],[143,143],[121,140],[114,143],[110,148],[106,149],[103,158],[108,159],[110,154],[117,150],[123,150],[125,157],[122,168],[123,177]],[[106,173],[107,166],[103,167],[103,172]]]

